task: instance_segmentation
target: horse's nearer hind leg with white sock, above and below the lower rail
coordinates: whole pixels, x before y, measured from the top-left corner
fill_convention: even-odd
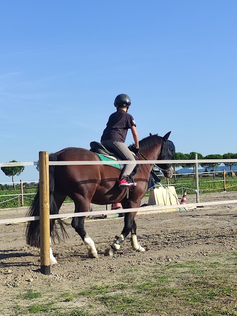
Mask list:
[[[77,212],[88,212],[90,208],[90,201],[84,200],[77,196],[77,199],[74,197],[75,203],[75,213]],[[88,250],[89,258],[98,258],[97,250],[95,248],[94,241],[90,238],[90,236],[86,233],[84,228],[85,217],[74,217],[72,220],[72,226],[80,235],[81,239],[84,242]]]

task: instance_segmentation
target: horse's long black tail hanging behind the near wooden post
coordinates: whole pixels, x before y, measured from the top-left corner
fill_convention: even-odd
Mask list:
[[[57,161],[58,154],[50,154],[49,161]],[[49,166],[49,213],[58,214],[58,207],[54,200],[54,169],[55,166]],[[40,187],[38,185],[37,193],[34,201],[32,202],[27,216],[40,216]],[[57,227],[54,225],[55,220],[50,220],[50,237],[54,241],[55,237],[60,240]],[[57,219],[57,222],[61,228],[63,237],[67,236],[67,232],[64,227],[64,223],[61,219]],[[26,228],[26,242],[33,247],[40,247],[40,221],[31,221],[27,224]]]

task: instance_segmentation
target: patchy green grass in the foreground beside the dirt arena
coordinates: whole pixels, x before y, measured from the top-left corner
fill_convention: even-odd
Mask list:
[[[118,283],[103,276],[92,286],[85,283],[81,291],[62,291],[50,299],[47,293],[28,291],[22,297],[32,304],[18,304],[15,310],[36,316],[237,316],[236,263],[233,252],[141,265],[123,270]]]

